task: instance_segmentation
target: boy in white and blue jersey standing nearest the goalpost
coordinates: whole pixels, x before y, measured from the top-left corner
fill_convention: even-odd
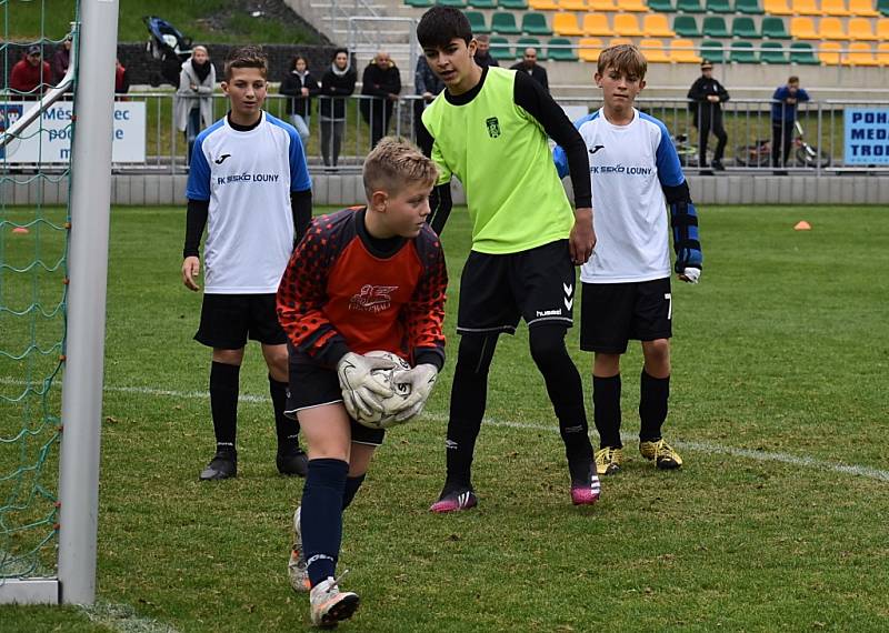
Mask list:
[[[200,240],[204,288],[194,339],[212,348],[210,409],[216,455],[201,480],[237,474],[239,373],[248,339],[259,341],[269,368],[282,474],[306,475],[299,425],[284,414],[287,335],[276,293],[293,244],[311,220],[311,181],[297,130],[262,110],[268,62],[254,47],[233,51],[222,90],[230,110],[201,132],[191,155],[182,281],[198,291]]]

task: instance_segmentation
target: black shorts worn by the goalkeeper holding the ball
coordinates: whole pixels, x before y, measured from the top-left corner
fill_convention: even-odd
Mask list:
[[[342,390],[337,372],[306,362],[290,363],[290,386],[284,415],[297,419],[302,409],[342,402]],[[352,442],[379,446],[386,436],[382,429],[369,429],[350,419]]]

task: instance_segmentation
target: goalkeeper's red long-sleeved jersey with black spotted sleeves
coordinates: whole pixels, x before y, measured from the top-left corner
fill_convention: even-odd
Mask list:
[[[377,252],[364,213],[359,207],[316,218],[290,258],[278,319],[294,355],[334,366],[349,351],[387,350],[443,362],[448,273],[438,235],[427,224],[391,252]]]

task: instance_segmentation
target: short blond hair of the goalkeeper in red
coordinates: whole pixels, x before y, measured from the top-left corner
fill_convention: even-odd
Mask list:
[[[374,191],[398,195],[410,184],[428,184],[438,179],[436,163],[409,140],[384,137],[364,159],[364,194],[370,201]]]

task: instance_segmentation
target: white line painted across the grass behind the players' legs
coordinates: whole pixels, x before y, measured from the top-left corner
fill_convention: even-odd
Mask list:
[[[151,389],[147,386],[106,386],[106,391],[110,392],[118,392],[118,393],[136,393],[136,394],[143,394],[143,395],[162,395],[169,398],[181,398],[181,399],[203,399],[207,400],[210,398],[210,394],[206,391],[169,391],[162,389]],[[249,395],[242,394],[238,396],[240,402],[253,402],[253,403],[263,403],[270,402],[271,399],[269,396],[262,395]],[[434,420],[436,422],[447,422],[448,416],[440,414],[440,413],[424,413],[424,418],[430,420]],[[507,429],[529,429],[535,431],[547,431],[551,433],[557,433],[559,431],[558,426],[553,423],[551,425],[546,424],[531,424],[527,422],[511,422],[508,420],[496,420],[491,418],[486,418],[483,420],[485,424],[491,426],[502,426]],[[637,439],[636,435],[630,433],[622,433],[621,438],[627,441],[633,441]],[[751,451],[749,449],[737,449],[735,446],[723,446],[721,444],[713,444],[710,442],[697,442],[697,441],[681,441],[677,440],[671,442],[678,449],[688,449],[690,451],[696,451],[699,453],[708,453],[708,454],[720,454],[720,455],[731,455],[733,458],[742,458],[747,460],[755,460],[758,462],[778,462],[782,464],[790,464],[793,466],[802,466],[807,469],[817,469],[817,470],[830,470],[836,473],[840,474],[851,474],[863,476],[868,479],[873,479],[877,481],[887,481],[889,482],[889,471],[873,469],[870,466],[860,466],[860,465],[848,465],[848,464],[840,464],[836,462],[825,462],[821,460],[816,460],[815,458],[807,458],[807,456],[798,456],[791,455],[788,453],[772,453],[769,451]]]

